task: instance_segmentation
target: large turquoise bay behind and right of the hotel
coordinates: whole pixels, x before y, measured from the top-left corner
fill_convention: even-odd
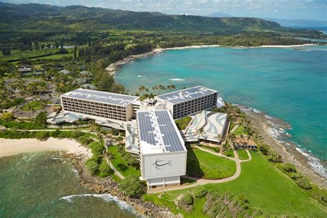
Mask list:
[[[141,76],[141,77],[140,77]],[[130,93],[141,85],[206,86],[224,100],[287,121],[310,165],[326,177],[327,46],[166,50],[123,66]]]

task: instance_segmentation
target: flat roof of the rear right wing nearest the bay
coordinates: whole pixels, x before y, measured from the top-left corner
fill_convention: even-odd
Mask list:
[[[195,86],[192,88],[186,88],[184,90],[169,92],[164,95],[158,95],[156,98],[175,104],[181,103],[183,101],[189,101],[191,99],[197,99],[199,97],[206,96],[215,92],[217,91],[210,88]]]

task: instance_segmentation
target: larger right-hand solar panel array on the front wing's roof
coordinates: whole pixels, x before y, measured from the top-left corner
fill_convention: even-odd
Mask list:
[[[167,151],[183,151],[185,150],[184,144],[181,143],[179,139],[179,135],[175,130],[175,123],[172,123],[168,110],[157,110],[155,111],[155,115],[157,116],[157,121],[159,124],[159,129],[161,132],[161,137],[164,140],[164,145]]]

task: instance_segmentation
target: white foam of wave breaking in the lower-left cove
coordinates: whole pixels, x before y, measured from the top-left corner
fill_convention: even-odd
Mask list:
[[[118,197],[112,196],[110,194],[80,194],[80,195],[68,195],[65,197],[61,197],[61,200],[66,200],[69,203],[73,203],[73,199],[75,197],[97,197],[97,198],[101,198],[106,202],[111,202],[111,201],[115,201],[115,203],[119,206],[119,208],[123,209],[123,210],[128,210],[132,213],[134,213],[135,215],[138,215],[137,212],[134,210],[134,208],[132,206],[130,206],[129,204],[127,204],[125,201],[121,201],[118,199]]]

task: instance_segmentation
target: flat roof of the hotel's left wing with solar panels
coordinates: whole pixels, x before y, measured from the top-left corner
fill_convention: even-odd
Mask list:
[[[115,104],[117,106],[128,106],[128,104],[139,99],[139,97],[137,97],[137,96],[121,95],[121,94],[117,94],[117,93],[101,92],[101,91],[88,90],[88,89],[82,89],[82,88],[72,90],[61,96],[62,97],[71,97],[74,99]]]

